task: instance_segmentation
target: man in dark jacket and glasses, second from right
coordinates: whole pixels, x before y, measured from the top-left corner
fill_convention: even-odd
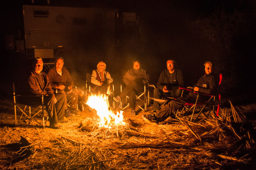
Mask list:
[[[177,64],[174,60],[166,62],[167,70],[163,70],[157,82],[157,88],[154,89],[154,98],[161,99],[163,96],[180,97],[181,89],[184,86],[183,73],[177,69]],[[160,110],[160,104],[154,100],[153,111]]]

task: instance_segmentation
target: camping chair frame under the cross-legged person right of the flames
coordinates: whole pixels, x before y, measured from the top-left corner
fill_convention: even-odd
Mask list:
[[[122,84],[120,85],[120,92],[122,93]],[[141,99],[142,96],[144,96],[144,99]],[[125,106],[123,107],[123,103],[120,103],[120,108],[122,110],[125,110],[125,108],[127,108],[130,103],[127,101],[129,99],[129,96],[125,96]],[[136,95],[136,100],[139,100],[141,102],[143,102],[144,104],[144,108],[143,106],[137,105],[141,110],[143,111],[147,111],[147,106],[149,105],[149,90],[148,90],[148,83],[144,84],[144,91],[137,94]]]

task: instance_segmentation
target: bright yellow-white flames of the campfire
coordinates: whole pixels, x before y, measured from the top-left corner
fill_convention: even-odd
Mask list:
[[[91,95],[88,97],[87,105],[97,111],[99,116],[99,127],[111,128],[113,125],[125,125],[122,111],[116,114],[109,108],[108,97],[105,95]]]

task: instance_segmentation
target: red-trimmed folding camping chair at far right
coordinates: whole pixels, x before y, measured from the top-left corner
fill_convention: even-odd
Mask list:
[[[204,110],[204,108],[207,105],[209,105],[210,103],[212,103],[212,105],[213,105],[212,106],[212,111],[214,112],[214,109],[215,109],[215,98],[216,98],[216,96],[218,96],[218,105],[217,105],[217,111],[216,111],[216,116],[218,116],[218,112],[219,112],[219,108],[220,108],[220,102],[221,102],[221,80],[222,80],[222,74],[219,74],[219,84],[218,84],[218,89],[217,89],[217,94],[216,95],[210,95],[210,94],[205,94],[205,93],[195,92],[194,91],[194,93],[197,94],[197,98],[196,98],[195,103],[185,103],[184,104],[184,108],[181,111],[181,113],[183,113],[184,111],[186,113],[186,112],[190,111],[193,108],[192,116],[191,116],[191,119],[190,119],[190,121],[192,121],[194,113],[195,113],[195,108],[196,107],[203,107],[203,108],[201,108],[201,110],[198,113],[198,115],[195,117],[195,119],[197,119],[198,116],[201,113],[203,113],[202,111]],[[192,91],[192,89],[188,89],[188,88],[180,88],[180,89],[186,90],[186,91]],[[206,102],[198,102],[198,97],[200,95],[209,96],[210,98]],[[177,116],[177,114],[176,114],[176,116]]]

